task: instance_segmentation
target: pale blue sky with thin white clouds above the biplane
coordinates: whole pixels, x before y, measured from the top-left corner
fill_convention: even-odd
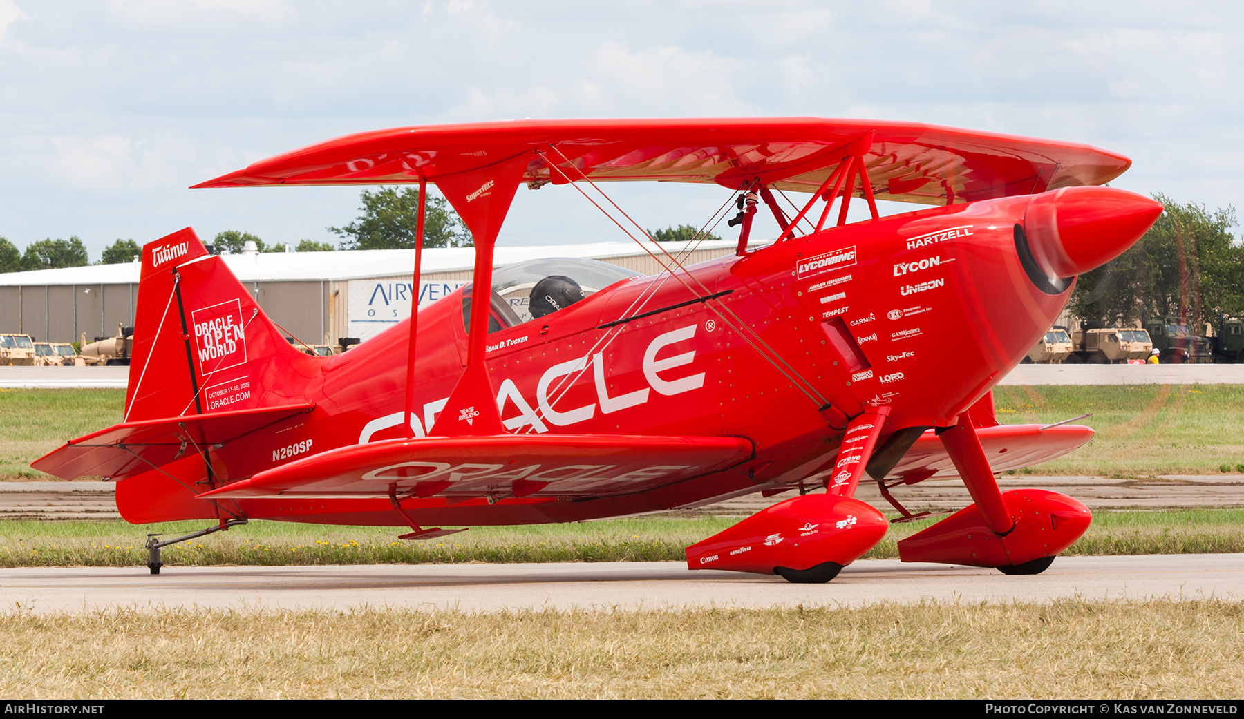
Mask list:
[[[524,117],[949,124],[1121,152],[1117,187],[1233,205],[1242,27],[1233,2],[0,0],[0,236],[92,259],[185,225],[335,241],[357,189],[187,187],[340,134]],[[613,188],[651,228],[726,199]],[[616,239],[569,188],[521,190],[501,234]]]

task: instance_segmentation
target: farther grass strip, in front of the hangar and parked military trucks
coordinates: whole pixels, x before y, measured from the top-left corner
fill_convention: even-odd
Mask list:
[[[998,419],[1052,423],[1092,412],[1097,437],[1028,471],[1232,474],[1244,471],[1244,386],[999,387]],[[0,481],[46,479],[30,463],[65,440],[121,420],[122,389],[0,391]]]

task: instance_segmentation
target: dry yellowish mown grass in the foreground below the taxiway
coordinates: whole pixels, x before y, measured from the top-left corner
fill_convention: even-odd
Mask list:
[[[0,646],[27,698],[1229,698],[1244,605],[16,612]]]

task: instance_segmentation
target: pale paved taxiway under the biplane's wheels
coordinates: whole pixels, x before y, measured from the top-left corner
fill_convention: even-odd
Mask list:
[[[863,560],[826,585],[678,562],[0,570],[0,610],[638,610],[1244,598],[1244,555],[1059,557],[1036,576]]]

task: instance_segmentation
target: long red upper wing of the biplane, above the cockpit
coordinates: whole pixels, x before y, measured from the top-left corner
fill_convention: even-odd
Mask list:
[[[592,182],[718,183],[753,178],[815,192],[852,142],[865,153],[881,199],[942,204],[954,199],[1097,185],[1131,164],[1090,146],[923,123],[822,118],[521,121],[402,127],[330,139],[194,185],[392,184],[480,169],[544,151],[522,175],[529,187]],[[557,165],[559,169],[551,169]]]

